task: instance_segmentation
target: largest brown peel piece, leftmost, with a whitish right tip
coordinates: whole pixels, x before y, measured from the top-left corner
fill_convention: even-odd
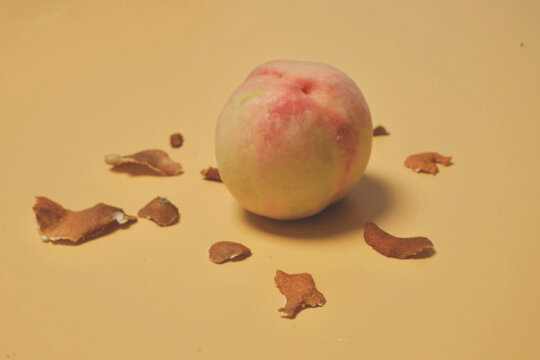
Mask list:
[[[32,210],[36,214],[41,238],[45,241],[77,243],[98,237],[115,222],[122,225],[137,221],[135,216],[127,215],[122,209],[103,203],[71,211],[43,196],[36,196]]]

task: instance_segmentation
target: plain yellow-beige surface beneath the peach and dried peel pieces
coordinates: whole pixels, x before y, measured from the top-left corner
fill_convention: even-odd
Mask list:
[[[0,359],[540,358],[539,18],[538,1],[2,1]],[[351,196],[291,223],[199,175],[229,94],[276,58],[342,69],[392,133]],[[148,148],[185,174],[103,162]],[[421,151],[455,165],[403,167]],[[180,224],[81,246],[42,242],[31,211],[158,194]],[[368,220],[436,254],[385,258]],[[214,265],[216,240],[253,256]],[[328,304],[280,318],[276,269]]]

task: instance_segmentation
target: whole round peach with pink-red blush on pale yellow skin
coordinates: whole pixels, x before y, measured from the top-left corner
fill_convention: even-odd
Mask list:
[[[324,64],[271,61],[225,105],[216,157],[223,183],[245,209],[298,219],[356,186],[371,140],[368,106],[347,75]]]

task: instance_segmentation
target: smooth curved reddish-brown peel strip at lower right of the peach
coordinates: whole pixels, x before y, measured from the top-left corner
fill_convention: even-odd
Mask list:
[[[406,259],[433,248],[433,243],[426,237],[398,238],[372,222],[364,225],[364,239],[377,252],[396,259]]]

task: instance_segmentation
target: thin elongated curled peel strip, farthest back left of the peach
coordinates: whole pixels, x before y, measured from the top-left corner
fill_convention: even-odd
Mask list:
[[[174,162],[163,150],[145,150],[132,155],[107,155],[105,162],[109,165],[119,166],[123,164],[138,164],[148,167],[155,172],[174,176],[183,173],[182,165]]]

